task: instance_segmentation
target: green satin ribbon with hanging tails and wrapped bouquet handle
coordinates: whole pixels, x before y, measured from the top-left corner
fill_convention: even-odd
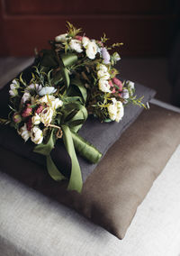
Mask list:
[[[64,80],[64,83],[67,86],[66,95],[63,95],[62,98],[64,104],[61,107],[62,114],[59,115],[58,126],[61,127],[63,131],[62,139],[67,149],[67,153],[71,158],[71,174],[67,189],[76,190],[80,193],[83,186],[83,180],[76,157],[76,151],[78,151],[86,160],[93,163],[98,162],[102,157],[102,154],[97,151],[91,143],[86,142],[77,134],[88,116],[85,108],[87,98],[86,88],[80,78],[73,78],[71,81],[69,78],[68,68],[74,65],[78,60],[75,53],[64,53],[60,54],[60,56],[58,56],[58,53],[56,54],[52,51],[44,51],[43,53],[44,56],[41,65],[44,65],[45,68],[47,68],[47,65],[50,63],[50,66],[57,67],[58,62],[60,73],[58,72],[56,78],[54,78],[55,84],[57,84],[58,81]],[[52,128],[49,135],[49,141],[37,145],[34,148],[34,151],[46,156],[47,169],[50,177],[59,181],[66,177],[61,174],[50,157],[50,151],[54,148],[57,139],[54,133],[55,129],[56,128]]]

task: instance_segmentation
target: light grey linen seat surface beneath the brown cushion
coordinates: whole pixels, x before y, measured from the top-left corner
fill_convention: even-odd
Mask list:
[[[123,240],[0,171],[3,256],[180,255],[180,146],[138,207]]]

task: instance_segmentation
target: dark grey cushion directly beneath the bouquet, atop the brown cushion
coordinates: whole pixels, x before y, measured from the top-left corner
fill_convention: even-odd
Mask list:
[[[31,79],[31,67],[23,71],[23,78],[27,81]],[[9,112],[9,84],[7,84],[0,91],[1,117],[7,117]],[[136,95],[138,97],[144,96],[143,102],[145,104],[153,96],[155,96],[155,91],[148,87],[143,87],[139,84],[136,84],[135,88]],[[121,133],[123,133],[130,126],[130,124],[136,120],[142,110],[143,108],[137,105],[126,106],[124,109],[125,114],[120,123],[100,123],[97,119],[90,116],[78,134],[81,135],[87,142],[91,142],[98,149],[98,151],[102,152],[104,155],[106,151],[112,146],[112,144],[121,136]],[[4,146],[4,148],[7,150],[14,151],[23,157],[46,166],[45,157],[33,152],[34,143],[32,143],[30,140],[24,143],[23,138],[18,135],[14,128],[9,126],[0,127],[0,145]],[[68,173],[71,166],[71,160],[67,154],[64,144],[58,141],[55,148],[57,148],[56,151],[52,151],[52,158],[54,162],[58,163],[58,168],[60,170],[65,170],[65,173],[66,171]],[[58,158],[59,155],[61,156],[60,158]],[[97,164],[89,163],[79,155],[77,155],[77,158],[82,170],[83,181],[85,181],[85,179],[91,174]]]

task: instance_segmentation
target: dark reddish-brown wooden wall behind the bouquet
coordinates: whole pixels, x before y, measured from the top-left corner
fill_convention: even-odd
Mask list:
[[[0,0],[0,56],[33,55],[66,32],[66,21],[124,42],[123,56],[164,56],[175,15],[170,0]]]

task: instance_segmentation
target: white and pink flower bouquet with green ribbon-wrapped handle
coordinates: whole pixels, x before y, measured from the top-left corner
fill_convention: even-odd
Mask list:
[[[102,123],[121,122],[124,107],[146,107],[134,95],[134,83],[117,78],[114,65],[120,60],[110,52],[121,43],[106,46],[106,37],[89,39],[67,23],[67,33],[49,41],[51,49],[36,52],[31,80],[23,73],[10,85],[10,112],[2,124],[10,124],[24,142],[34,143],[34,152],[46,157],[51,178],[68,179],[68,189],[82,189],[82,176],[76,152],[92,163],[102,154],[78,135],[88,115]],[[57,140],[62,140],[71,159],[70,176],[51,158]],[[60,156],[59,156],[60,157]]]

